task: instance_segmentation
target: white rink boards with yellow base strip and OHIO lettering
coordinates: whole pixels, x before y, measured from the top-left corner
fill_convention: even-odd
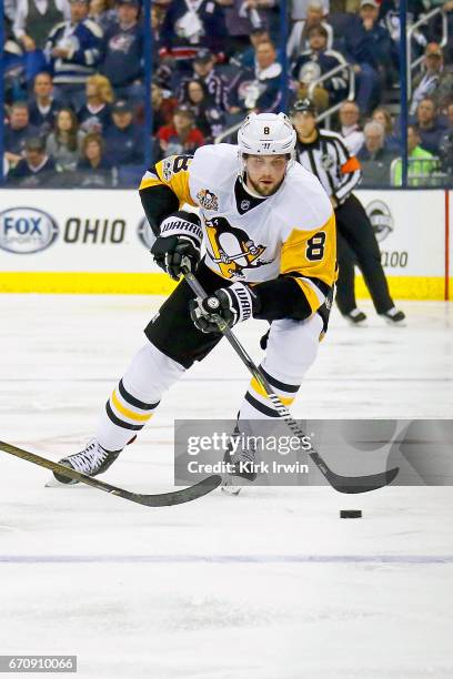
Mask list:
[[[452,192],[358,191],[392,295],[452,295]],[[167,294],[135,191],[2,191],[0,292]],[[296,226],[296,224],[294,224]],[[450,290],[449,290],[450,288]],[[358,296],[364,297],[358,277]]]

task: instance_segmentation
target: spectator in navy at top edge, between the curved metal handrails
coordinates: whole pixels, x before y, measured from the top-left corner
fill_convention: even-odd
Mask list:
[[[359,16],[364,31],[372,40],[378,70],[385,88],[399,79],[397,54],[387,29],[379,22],[379,8],[376,0],[361,0]]]

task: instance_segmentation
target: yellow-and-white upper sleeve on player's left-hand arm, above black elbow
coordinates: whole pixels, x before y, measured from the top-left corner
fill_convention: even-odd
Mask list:
[[[189,189],[190,163],[192,159],[187,155],[170,155],[145,172],[139,191],[151,186],[169,186],[178,197],[180,207],[184,203],[197,207]]]

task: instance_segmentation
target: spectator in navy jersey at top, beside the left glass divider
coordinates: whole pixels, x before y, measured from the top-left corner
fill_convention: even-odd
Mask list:
[[[103,41],[102,73],[118,98],[133,102],[144,98],[143,27],[139,13],[139,0],[118,0],[118,21],[107,29]]]

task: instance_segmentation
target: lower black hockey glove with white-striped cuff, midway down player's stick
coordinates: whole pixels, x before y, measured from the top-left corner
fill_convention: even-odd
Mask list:
[[[210,297],[195,297],[190,302],[190,315],[195,326],[203,333],[218,333],[215,315],[221,316],[232,327],[246,321],[259,308],[254,292],[243,283],[217,290]]]

